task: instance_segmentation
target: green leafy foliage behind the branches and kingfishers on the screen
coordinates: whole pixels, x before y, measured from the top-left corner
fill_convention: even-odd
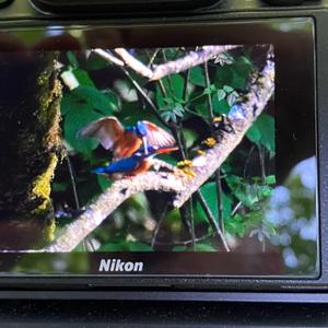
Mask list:
[[[153,58],[153,65],[160,65],[183,57],[188,50],[190,49],[164,48],[129,51],[142,62],[149,62]],[[223,54],[219,59],[208,61],[208,71],[200,65],[157,82],[149,82],[127,68],[132,79],[155,103],[162,122],[122,70],[105,62],[95,54],[87,57],[83,52],[68,51],[62,58],[63,71],[71,74],[79,86],[65,90],[61,104],[62,130],[65,144],[73,163],[81,206],[87,206],[110,185],[108,179],[90,173],[93,167],[110,162],[110,153],[98,147],[96,140],[79,138],[77,133],[82,127],[99,117],[112,115],[124,125],[136,124],[145,118],[162,127],[166,122],[172,127],[172,133],[176,131],[181,136],[186,156],[192,159],[201,148],[201,142],[211,137],[209,98],[213,114],[218,116],[226,114],[247,92],[249,77],[257,69],[253,50],[254,47],[244,47],[232,54]],[[209,85],[207,79],[210,81]],[[222,165],[220,198],[215,177],[211,177],[201,187],[208,208],[218,222],[222,218],[223,222],[219,223],[224,226],[225,234],[235,241],[251,237],[262,244],[274,235],[274,227],[267,222],[265,215],[276,184],[272,114],[272,108],[269,108],[257,119],[248,130],[247,138],[244,138]],[[174,164],[183,157],[180,152],[163,159]],[[68,216],[73,216],[72,209],[77,204],[65,164],[57,174],[52,191],[57,207],[70,209],[67,210]],[[169,209],[167,201],[166,196],[159,192],[147,192],[128,199],[94,232],[92,238],[99,244],[98,250],[152,250],[151,241],[160,220],[162,225],[154,249],[192,250],[190,243],[179,245],[181,241],[190,239],[190,223],[185,222],[186,219],[179,211]],[[201,239],[196,243],[196,250],[221,249],[196,198],[189,207],[189,216],[187,221],[192,219],[196,237]]]

